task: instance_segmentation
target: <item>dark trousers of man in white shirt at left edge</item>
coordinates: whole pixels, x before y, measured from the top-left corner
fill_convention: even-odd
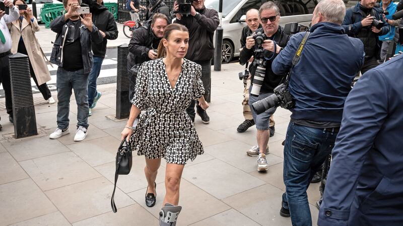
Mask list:
[[[6,96],[7,114],[13,116],[13,101],[11,98],[9,56],[0,57],[0,83],[3,84],[4,95]]]

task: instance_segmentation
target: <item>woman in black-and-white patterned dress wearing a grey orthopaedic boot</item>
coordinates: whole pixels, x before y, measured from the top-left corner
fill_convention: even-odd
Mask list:
[[[176,205],[183,167],[189,159],[194,160],[204,153],[194,125],[186,114],[186,107],[195,99],[204,109],[209,107],[203,97],[201,66],[184,59],[188,41],[186,27],[179,24],[166,27],[158,47],[158,53],[166,57],[141,65],[130,116],[121,133],[122,140],[130,138],[133,151],[145,155],[147,206],[154,206],[156,201],[155,179],[161,158],[167,162],[166,195],[160,212],[160,225],[175,225],[181,209]],[[141,110],[146,112],[134,129],[131,126]]]

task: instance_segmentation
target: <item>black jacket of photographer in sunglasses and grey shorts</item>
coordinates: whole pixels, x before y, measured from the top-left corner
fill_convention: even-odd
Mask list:
[[[263,28],[259,28],[256,30],[257,32],[264,33]],[[272,39],[273,38],[273,39]],[[272,39],[274,40],[277,45],[281,47],[285,47],[287,45],[288,40],[290,39],[290,35],[284,33],[284,29],[279,26],[279,29],[277,32],[272,36],[272,38],[267,38],[267,39]],[[243,47],[241,53],[239,54],[239,62],[244,65],[252,56],[254,56],[254,59],[258,58],[260,53],[255,53],[254,48],[252,47],[251,49],[247,49],[246,46]],[[268,93],[268,92],[273,92],[273,89],[276,88],[281,80],[283,79],[283,76],[276,75],[273,73],[272,70],[272,62],[276,58],[278,54],[275,54],[273,56],[273,52],[264,50],[263,55],[266,56],[267,58],[270,58],[270,60],[266,61],[266,71],[263,79],[263,85],[260,88],[260,93]],[[273,57],[272,57],[273,56]],[[249,71],[251,74],[251,83],[253,83],[253,78],[254,74],[256,71],[257,65],[254,63],[251,63],[249,66]]]

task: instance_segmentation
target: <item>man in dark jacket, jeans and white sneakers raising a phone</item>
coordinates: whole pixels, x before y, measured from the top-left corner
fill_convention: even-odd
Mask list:
[[[70,97],[72,89],[77,102],[77,132],[74,141],[82,141],[88,128],[88,76],[93,65],[92,42],[103,41],[101,33],[92,22],[92,14],[80,15],[81,0],[63,0],[66,13],[50,23],[57,33],[50,62],[58,66],[57,129],[50,139],[69,134]]]

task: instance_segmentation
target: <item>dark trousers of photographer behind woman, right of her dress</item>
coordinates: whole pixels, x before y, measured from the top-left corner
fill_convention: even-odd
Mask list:
[[[203,95],[207,102],[211,100],[211,60],[209,61],[194,61],[201,66],[201,81],[203,82],[203,86],[205,88],[205,94]],[[131,83],[131,82],[130,82]],[[186,108],[187,115],[190,117],[192,122],[194,122],[194,117],[196,113],[194,111],[194,105],[196,105],[198,110],[203,110],[198,105],[198,101],[190,101],[189,106]]]

